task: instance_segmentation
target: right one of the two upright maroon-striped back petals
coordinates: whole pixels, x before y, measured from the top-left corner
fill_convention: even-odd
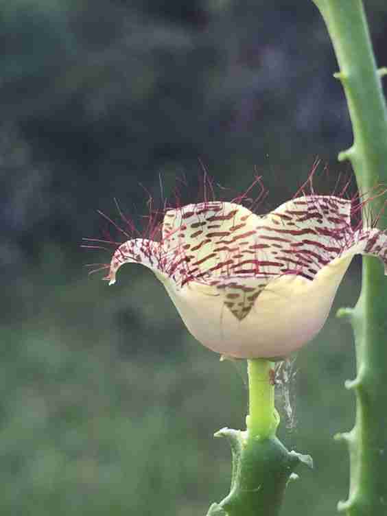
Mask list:
[[[333,196],[295,198],[263,216],[256,227],[260,261],[268,276],[317,272],[351,242],[351,201]]]

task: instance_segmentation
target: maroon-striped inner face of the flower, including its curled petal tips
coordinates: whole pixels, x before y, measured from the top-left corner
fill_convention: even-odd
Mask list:
[[[314,281],[340,257],[359,253],[379,257],[387,270],[386,235],[375,228],[354,231],[351,200],[336,196],[302,196],[263,216],[233,202],[188,204],[168,210],[162,229],[161,242],[132,239],[117,248],[109,284],[124,263],[141,263],[177,291],[189,283],[211,287],[243,320],[270,282],[284,275]]]

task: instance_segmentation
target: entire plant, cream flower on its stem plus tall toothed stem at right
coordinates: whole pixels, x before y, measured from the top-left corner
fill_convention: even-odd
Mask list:
[[[283,360],[320,331],[355,254],[364,257],[363,287],[354,309],[342,309],[355,331],[357,415],[349,444],[351,488],[339,504],[347,516],[387,513],[387,236],[383,196],[387,184],[387,110],[360,0],[314,0],[336,50],[336,73],[347,95],[353,124],[349,159],[360,196],[288,200],[266,215],[241,202],[204,200],[167,209],[146,238],[117,246],[109,284],[124,263],[141,263],[163,283],[187,329],[204,346],[248,361],[246,430],[223,429],[233,451],[231,492],[209,508],[214,516],[275,516],[298,462],[276,437],[274,362]],[[242,198],[241,198],[242,200]],[[361,202],[360,202],[361,200]],[[380,216],[353,226],[367,203]],[[361,219],[361,217],[360,217]],[[379,260],[375,259],[379,258]]]

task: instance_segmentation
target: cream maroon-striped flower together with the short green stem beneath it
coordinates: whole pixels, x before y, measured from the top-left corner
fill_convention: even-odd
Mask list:
[[[294,467],[310,462],[275,437],[272,362],[320,331],[355,254],[387,264],[387,236],[351,224],[361,209],[358,198],[313,190],[262,216],[235,202],[199,202],[167,210],[161,228],[113,254],[110,285],[124,263],[141,263],[163,283],[199,342],[248,360],[247,430],[217,434],[231,441],[234,472],[231,493],[209,515],[253,516],[263,509],[277,515]]]

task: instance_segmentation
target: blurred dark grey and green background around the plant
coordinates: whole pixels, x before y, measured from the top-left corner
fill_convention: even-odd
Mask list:
[[[386,65],[386,4],[367,8]],[[204,515],[228,492],[212,434],[244,427],[243,368],[189,336],[151,272],[88,277],[109,256],[80,242],[106,229],[97,209],[119,221],[115,198],[139,228],[148,193],[198,198],[199,161],[224,198],[262,175],[261,212],[317,157],[333,191],[351,128],[325,27],[310,0],[12,0],[0,23],[0,513]],[[359,280],[355,260],[335,307]],[[334,312],[298,354],[291,429],[282,414],[315,461],[284,515],[334,514],[347,493],[332,436],[353,421],[354,357]]]

